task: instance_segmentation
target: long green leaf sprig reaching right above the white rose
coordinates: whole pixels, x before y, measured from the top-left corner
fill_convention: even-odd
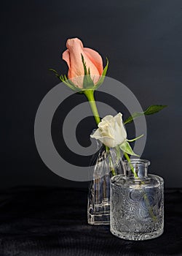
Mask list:
[[[129,124],[131,123],[135,118],[138,118],[139,116],[149,116],[152,115],[154,113],[159,112],[160,110],[162,110],[163,108],[166,108],[167,105],[151,105],[149,106],[149,108],[147,108],[144,112],[135,112],[132,114],[132,116],[129,116],[129,118],[127,118],[127,120],[124,121],[124,124]]]

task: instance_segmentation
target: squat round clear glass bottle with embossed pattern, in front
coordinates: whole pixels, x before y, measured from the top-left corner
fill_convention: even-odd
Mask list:
[[[111,233],[127,240],[156,238],[164,229],[164,181],[148,175],[150,162],[124,161],[124,175],[111,178]]]

